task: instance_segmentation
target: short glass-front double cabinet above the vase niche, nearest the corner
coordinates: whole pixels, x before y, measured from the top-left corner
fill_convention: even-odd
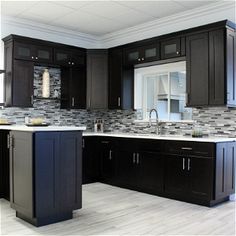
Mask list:
[[[83,66],[85,65],[85,52],[69,49],[55,49],[54,62],[61,66]]]

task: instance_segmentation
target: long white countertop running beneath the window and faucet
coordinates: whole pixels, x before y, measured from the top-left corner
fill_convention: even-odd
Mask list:
[[[209,143],[233,142],[233,141],[236,141],[236,138],[225,138],[225,137],[192,138],[192,137],[188,137],[188,136],[178,136],[178,135],[127,134],[127,133],[84,132],[83,136],[142,138],[142,139],[175,140],[175,141],[191,141],[191,142],[209,142]]]

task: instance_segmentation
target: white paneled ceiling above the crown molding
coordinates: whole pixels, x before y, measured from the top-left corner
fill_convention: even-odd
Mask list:
[[[1,15],[102,36],[215,2],[1,0]]]

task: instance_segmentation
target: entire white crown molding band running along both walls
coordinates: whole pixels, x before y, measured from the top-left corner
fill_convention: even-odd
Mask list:
[[[235,20],[235,1],[218,1],[124,30],[95,36],[16,17],[2,18],[2,35],[18,34],[84,48],[109,48],[220,20]]]

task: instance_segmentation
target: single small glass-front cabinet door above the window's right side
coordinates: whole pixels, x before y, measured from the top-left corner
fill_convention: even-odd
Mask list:
[[[180,38],[169,39],[161,42],[161,59],[181,56]]]

